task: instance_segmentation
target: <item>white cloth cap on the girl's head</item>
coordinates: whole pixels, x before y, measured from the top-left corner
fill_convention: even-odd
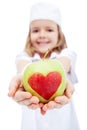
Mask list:
[[[58,7],[49,3],[36,3],[31,8],[30,23],[34,20],[51,20],[61,25],[61,15]]]

